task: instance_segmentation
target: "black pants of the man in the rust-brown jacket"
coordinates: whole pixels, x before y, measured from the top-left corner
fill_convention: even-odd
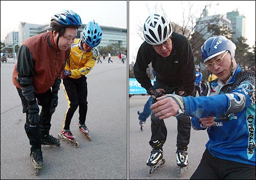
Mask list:
[[[55,112],[55,108],[50,107],[50,100],[52,99],[52,90],[48,89],[48,91],[43,94],[35,94],[37,104],[42,106],[40,112],[40,123],[36,126],[31,126],[29,122],[28,101],[22,95],[21,89],[17,88],[17,91],[23,107],[22,112],[26,113],[26,123],[24,128],[30,140],[30,145],[33,148],[39,148],[41,147],[41,137],[43,137],[43,135],[49,134],[50,127],[52,126],[50,124],[50,121],[52,119],[53,113]]]

